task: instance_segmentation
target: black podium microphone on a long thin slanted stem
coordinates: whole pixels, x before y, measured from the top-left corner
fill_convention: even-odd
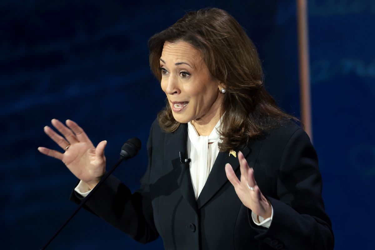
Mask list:
[[[60,229],[58,229],[55,232],[55,234],[52,236],[52,238],[40,250],[46,249],[46,247],[49,245],[49,243],[52,242],[52,240],[63,230],[63,228],[68,224],[68,222],[71,219],[73,219],[73,217],[78,213],[78,211],[83,207],[83,205],[86,204],[87,200],[90,199],[92,194],[95,193],[96,190],[98,190],[98,188],[104,183],[105,180],[107,180],[107,178],[112,174],[112,172],[115,170],[115,168],[117,168],[117,166],[120,165],[120,163],[123,160],[127,160],[129,158],[132,158],[132,157],[136,156],[136,154],[138,154],[139,150],[141,149],[141,146],[142,146],[141,141],[136,137],[131,138],[124,143],[124,145],[121,148],[120,159],[118,159],[118,161],[115,163],[115,165],[113,165],[113,167],[110,169],[110,171],[108,171],[102,177],[102,179],[99,181],[99,183],[96,184],[96,186],[91,190],[91,192],[81,201],[80,205],[72,213],[72,215],[68,218],[68,220],[66,220],[64,222],[64,224],[60,227]]]

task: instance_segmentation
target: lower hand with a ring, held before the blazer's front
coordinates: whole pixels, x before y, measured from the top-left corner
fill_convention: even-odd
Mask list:
[[[266,197],[264,197],[262,192],[260,192],[260,189],[255,182],[254,169],[249,167],[242,152],[238,153],[238,160],[240,162],[241,171],[240,180],[237,178],[229,163],[225,165],[226,177],[232,183],[238,197],[246,207],[264,219],[271,217],[271,204]],[[254,188],[254,190],[251,190],[249,187]]]

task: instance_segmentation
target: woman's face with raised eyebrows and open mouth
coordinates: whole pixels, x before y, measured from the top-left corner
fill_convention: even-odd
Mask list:
[[[200,51],[187,42],[165,42],[160,68],[161,87],[176,121],[208,123],[219,116],[220,82],[211,76]]]

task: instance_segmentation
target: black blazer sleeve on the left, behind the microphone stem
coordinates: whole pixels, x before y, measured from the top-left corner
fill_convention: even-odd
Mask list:
[[[84,207],[141,243],[147,243],[159,237],[154,225],[148,189],[153,127],[151,126],[150,137],[147,141],[149,163],[147,171],[141,179],[141,188],[132,194],[126,185],[111,175]],[[82,196],[73,190],[70,200],[80,203],[81,199]]]

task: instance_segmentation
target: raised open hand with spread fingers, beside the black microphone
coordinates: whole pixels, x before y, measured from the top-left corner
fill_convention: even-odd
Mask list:
[[[39,147],[39,152],[62,160],[78,179],[93,189],[105,172],[104,148],[107,141],[99,142],[95,148],[83,129],[74,121],[66,120],[66,126],[57,119],[53,119],[51,123],[65,138],[48,126],[44,127],[44,132],[66,151],[60,153]]]

